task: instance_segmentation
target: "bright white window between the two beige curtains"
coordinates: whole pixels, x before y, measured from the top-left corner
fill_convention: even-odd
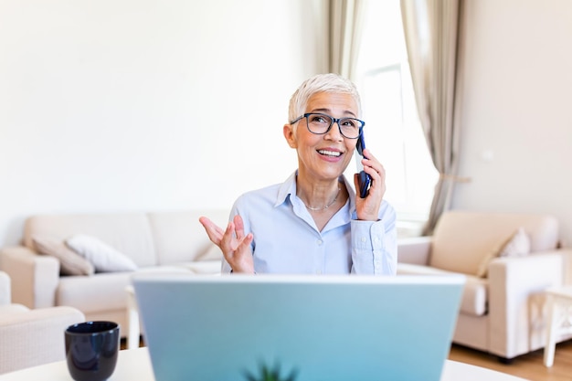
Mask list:
[[[439,175],[418,121],[399,0],[367,6],[356,80],[365,143],[386,168],[386,199],[399,226],[418,229],[429,215]]]

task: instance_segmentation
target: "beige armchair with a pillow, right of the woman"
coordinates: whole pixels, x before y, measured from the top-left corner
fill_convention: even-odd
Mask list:
[[[397,274],[465,274],[453,341],[506,361],[544,347],[543,291],[563,283],[570,252],[555,217],[450,211],[432,237],[399,241]]]

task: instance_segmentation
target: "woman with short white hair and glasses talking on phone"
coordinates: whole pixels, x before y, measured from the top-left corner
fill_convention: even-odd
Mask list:
[[[290,101],[286,142],[298,169],[284,183],[239,196],[226,229],[199,220],[224,255],[223,272],[395,275],[396,213],[386,173],[369,150],[365,198],[344,177],[365,122],[354,83],[335,74],[305,80]],[[359,190],[357,174],[355,188]]]

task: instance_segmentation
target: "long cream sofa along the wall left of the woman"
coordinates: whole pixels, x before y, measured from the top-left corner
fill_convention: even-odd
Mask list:
[[[86,320],[120,323],[129,330],[126,286],[134,271],[220,271],[221,254],[198,222],[207,216],[223,227],[228,211],[221,209],[156,213],[33,216],[26,219],[22,245],[0,250],[0,269],[12,278],[12,299],[28,308],[71,306]],[[79,236],[99,240],[136,270],[92,275],[62,275],[59,260],[40,255],[37,238],[60,245]]]

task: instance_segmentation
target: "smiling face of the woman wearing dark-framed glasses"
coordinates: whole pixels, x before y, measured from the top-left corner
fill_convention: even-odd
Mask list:
[[[349,94],[319,92],[308,100],[305,112],[320,112],[334,118],[358,118],[357,104]],[[304,113],[305,113],[304,112]],[[306,179],[332,180],[344,173],[352,160],[357,139],[347,139],[334,123],[329,132],[308,131],[306,118],[297,126],[286,124],[284,136],[298,152],[298,173]]]

